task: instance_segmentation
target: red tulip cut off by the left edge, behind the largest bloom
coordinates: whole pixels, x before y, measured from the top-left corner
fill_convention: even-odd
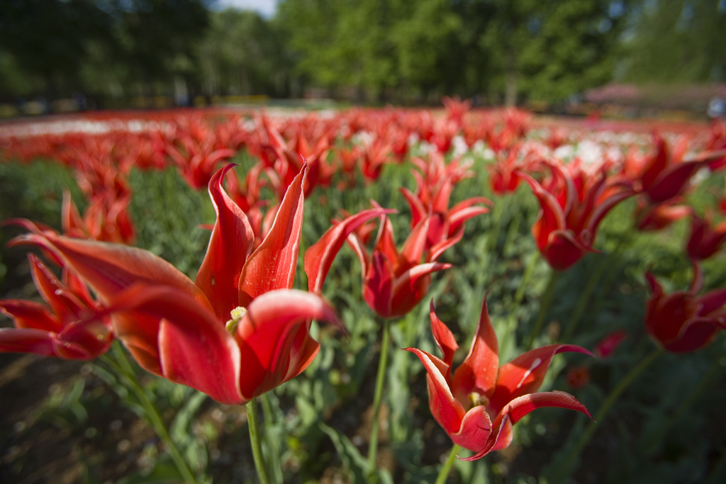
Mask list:
[[[99,316],[99,306],[85,287],[81,290],[76,286],[68,273],[68,284],[60,282],[33,254],[28,254],[28,261],[33,282],[47,307],[28,300],[0,300],[0,313],[15,323],[15,329],[0,329],[0,352],[73,360],[89,360],[105,353],[113,341],[110,322]]]

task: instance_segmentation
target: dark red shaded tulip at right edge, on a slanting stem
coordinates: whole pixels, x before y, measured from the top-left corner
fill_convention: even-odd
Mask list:
[[[693,261],[693,282],[688,291],[663,292],[658,280],[647,272],[650,298],[645,305],[645,330],[664,350],[688,353],[711,343],[719,329],[726,329],[726,289],[698,296],[703,271]]]

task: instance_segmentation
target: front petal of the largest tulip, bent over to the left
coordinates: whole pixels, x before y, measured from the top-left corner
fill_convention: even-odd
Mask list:
[[[240,348],[211,308],[187,292],[134,284],[110,300],[104,313],[122,313],[129,319],[147,316],[138,319],[139,324],[157,321],[163,377],[200,390],[221,403],[245,403],[239,387]]]

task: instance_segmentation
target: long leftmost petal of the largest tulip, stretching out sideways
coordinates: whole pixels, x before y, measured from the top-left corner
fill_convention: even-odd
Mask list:
[[[26,234],[17,243],[44,247],[70,266],[105,299],[132,284],[175,287],[211,308],[204,293],[171,263],[147,250],[107,242],[71,239],[56,234]]]

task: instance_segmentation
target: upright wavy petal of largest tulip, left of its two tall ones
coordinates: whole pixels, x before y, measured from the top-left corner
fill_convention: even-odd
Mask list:
[[[240,274],[255,240],[247,216],[222,187],[225,174],[233,166],[220,168],[209,181],[209,197],[217,218],[195,279],[220,321],[229,319],[229,312],[239,305]]]

